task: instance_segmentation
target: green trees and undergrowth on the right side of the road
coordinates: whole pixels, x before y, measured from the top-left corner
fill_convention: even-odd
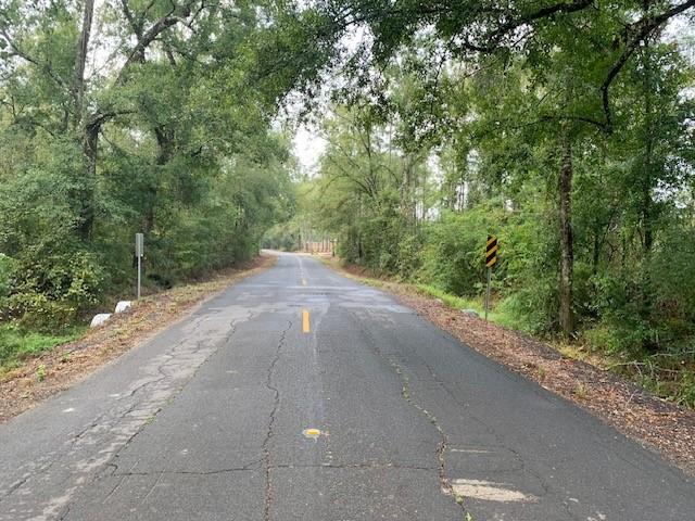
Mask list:
[[[369,11],[378,66],[353,56],[296,220],[338,234],[345,260],[472,308],[494,233],[495,320],[648,365],[645,385],[691,403],[692,64],[656,26],[623,38],[652,11],[540,15],[511,45],[531,8],[500,9],[497,29],[472,3]]]

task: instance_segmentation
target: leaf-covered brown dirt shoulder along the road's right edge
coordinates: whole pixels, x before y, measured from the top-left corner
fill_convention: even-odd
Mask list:
[[[352,277],[365,277],[361,268],[327,264]],[[379,280],[377,285],[479,353],[576,403],[695,475],[695,411],[656,397],[604,369],[567,358],[518,331],[452,309],[409,284]]]

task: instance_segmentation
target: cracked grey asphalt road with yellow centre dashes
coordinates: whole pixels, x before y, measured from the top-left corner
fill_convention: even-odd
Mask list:
[[[458,499],[458,500],[457,500]],[[695,483],[307,256],[0,425],[0,520],[695,520]]]

